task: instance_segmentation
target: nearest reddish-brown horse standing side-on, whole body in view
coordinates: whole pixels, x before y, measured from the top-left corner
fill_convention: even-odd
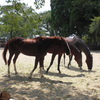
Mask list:
[[[70,49],[68,43],[61,37],[37,37],[35,39],[24,39],[24,38],[13,38],[7,42],[3,51],[3,59],[5,64],[8,64],[8,76],[10,76],[10,63],[11,59],[14,56],[13,64],[14,70],[17,74],[16,70],[16,60],[20,53],[23,53],[28,56],[35,56],[35,65],[33,70],[30,73],[30,78],[34,70],[37,68],[38,63],[40,64],[40,74],[43,76],[42,68],[44,57],[49,50],[52,48],[59,47],[59,44],[64,46],[66,54],[70,54]],[[59,48],[58,48],[59,49]],[[9,50],[9,59],[6,60],[6,53]]]

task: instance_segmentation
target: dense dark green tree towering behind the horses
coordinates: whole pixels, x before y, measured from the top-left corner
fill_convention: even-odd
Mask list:
[[[88,33],[90,19],[100,15],[100,0],[51,0],[52,27],[58,35]]]

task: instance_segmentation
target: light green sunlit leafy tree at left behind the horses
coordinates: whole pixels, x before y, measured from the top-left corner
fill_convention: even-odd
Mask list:
[[[40,16],[26,4],[16,0],[9,1],[10,4],[0,7],[0,29],[2,35],[10,38],[21,36],[31,37],[34,30],[38,30]]]

